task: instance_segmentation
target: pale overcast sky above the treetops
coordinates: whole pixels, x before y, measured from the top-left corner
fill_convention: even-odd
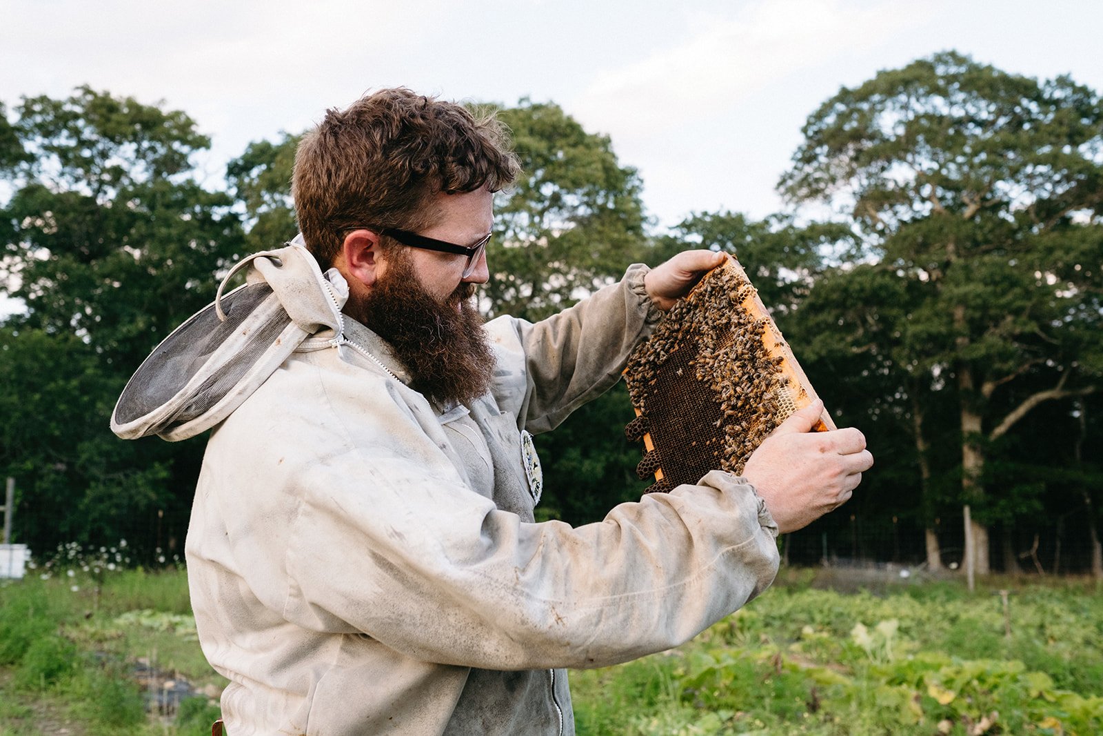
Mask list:
[[[1101,30],[1100,0],[0,0],[0,99],[164,100],[212,136],[212,182],[377,87],[552,100],[611,137],[672,225],[782,209],[801,125],[843,85],[954,49],[1101,90]]]

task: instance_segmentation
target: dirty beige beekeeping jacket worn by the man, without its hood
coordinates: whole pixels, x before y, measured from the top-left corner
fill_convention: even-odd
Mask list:
[[[572,734],[564,668],[681,644],[770,584],[777,526],[728,473],[534,523],[527,435],[618,380],[658,318],[645,271],[489,322],[493,388],[470,405],[428,402],[345,317],[214,429],[186,556],[231,734]],[[275,286],[288,311],[318,276]]]

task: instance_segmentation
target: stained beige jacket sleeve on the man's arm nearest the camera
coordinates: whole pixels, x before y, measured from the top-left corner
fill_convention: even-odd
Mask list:
[[[372,414],[394,441],[349,437],[287,476],[288,534],[254,537],[299,626],[442,664],[602,666],[688,640],[777,573],[777,527],[739,478],[711,472],[585,526],[524,523],[468,489],[399,401]]]

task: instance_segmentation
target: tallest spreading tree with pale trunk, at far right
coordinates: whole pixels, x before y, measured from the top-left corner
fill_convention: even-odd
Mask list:
[[[917,294],[898,360],[955,392],[962,499],[987,572],[988,526],[1014,522],[1022,499],[998,503],[986,462],[1030,412],[1071,410],[1103,374],[1100,98],[947,52],[839,90],[804,136],[784,191],[839,207]]]

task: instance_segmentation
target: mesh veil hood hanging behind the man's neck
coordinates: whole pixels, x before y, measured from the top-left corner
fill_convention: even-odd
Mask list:
[[[246,282],[222,289],[248,266]],[[233,413],[310,335],[339,340],[344,278],[324,275],[300,235],[283,248],[257,253],[226,275],[215,300],[161,341],[131,376],[111,413],[124,439],[159,435],[186,439]]]

